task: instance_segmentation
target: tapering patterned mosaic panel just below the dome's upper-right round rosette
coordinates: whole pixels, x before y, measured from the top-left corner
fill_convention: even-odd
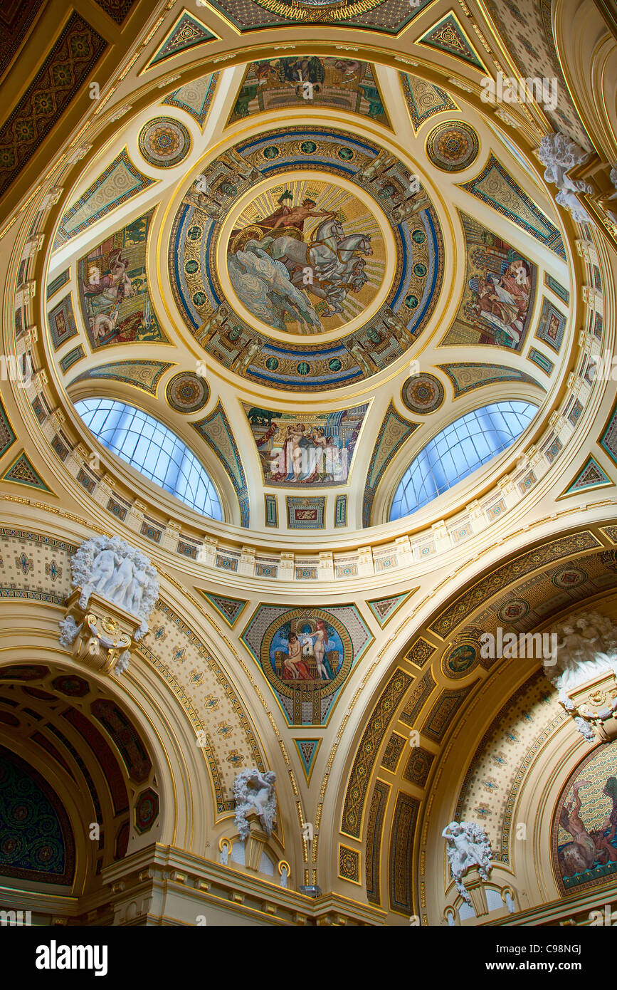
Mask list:
[[[559,254],[566,260],[566,251],[561,234],[539,207],[529,198],[524,189],[503,167],[494,154],[488,156],[480,175],[462,182],[459,189],[465,189],[483,203],[492,207],[502,217],[507,217],[521,230]]]

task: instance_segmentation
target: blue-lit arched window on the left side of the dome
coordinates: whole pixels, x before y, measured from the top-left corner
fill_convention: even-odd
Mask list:
[[[75,409],[101,441],[192,509],[222,520],[217,490],[188,446],[158,420],[115,399],[81,399]]]

